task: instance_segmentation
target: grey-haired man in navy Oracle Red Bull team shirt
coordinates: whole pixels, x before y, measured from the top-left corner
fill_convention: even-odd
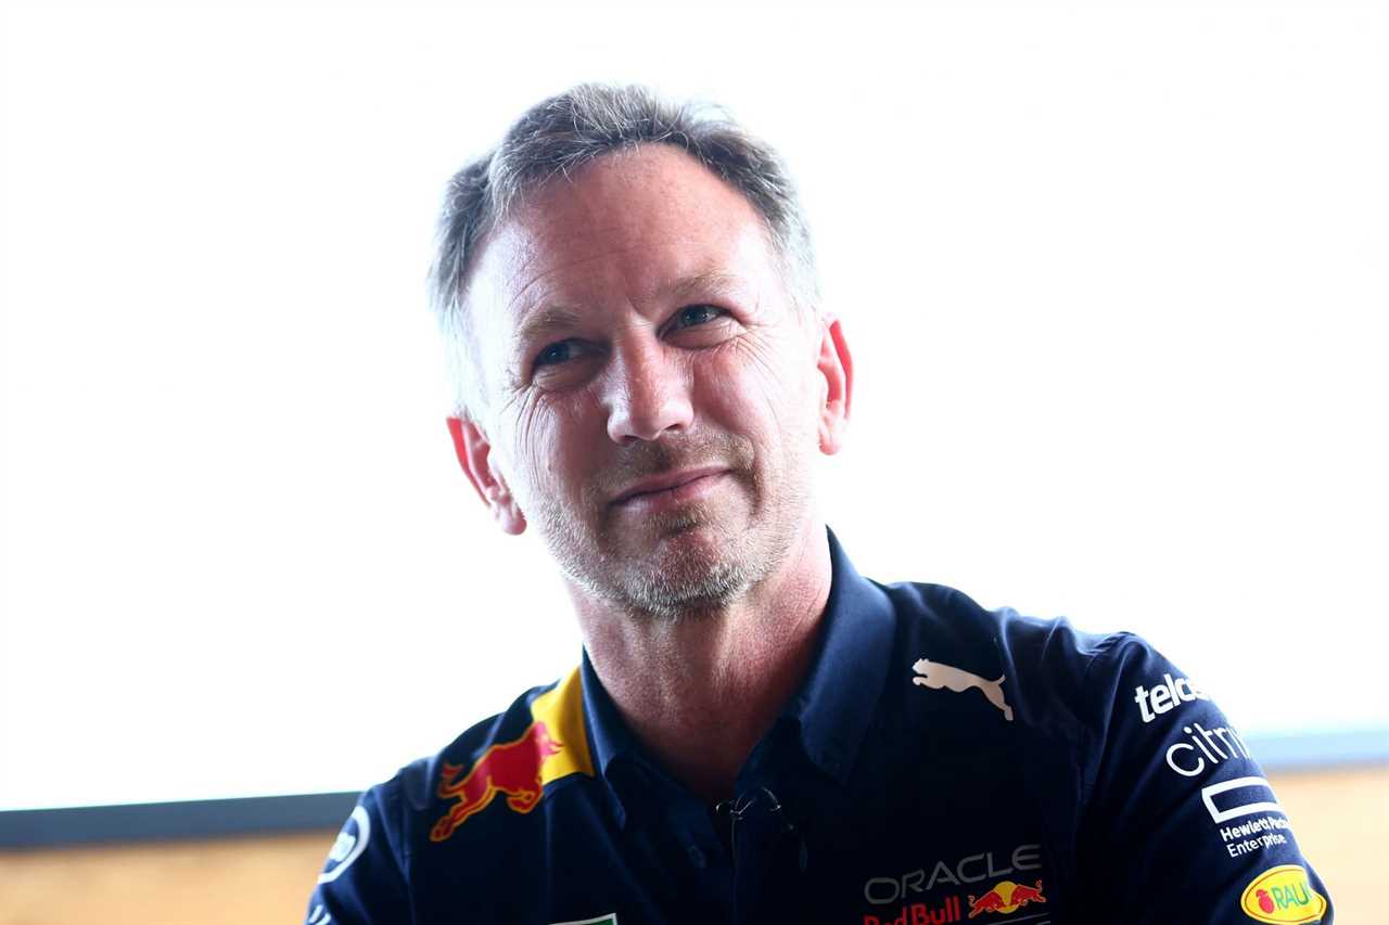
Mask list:
[[[368,790],[308,922],[1315,922],[1239,735],[1129,635],[861,578],[817,507],[853,364],[775,154],[639,89],[453,181],[463,469],[585,646]]]

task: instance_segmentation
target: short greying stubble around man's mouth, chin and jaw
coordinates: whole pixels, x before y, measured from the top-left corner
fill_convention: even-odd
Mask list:
[[[753,446],[745,439],[724,439],[717,447],[700,449],[651,443],[618,467],[615,479],[606,481],[621,486],[654,472],[711,461],[729,465],[725,478],[736,481],[718,490],[742,492],[750,500],[733,506],[739,514],[746,511],[746,521],[729,514],[729,499],[713,499],[653,515],[635,538],[631,519],[607,504],[614,492],[610,485],[585,486],[582,510],[589,512],[588,519],[543,492],[532,500],[538,515],[528,519],[564,575],[583,593],[636,618],[714,617],[765,581],[789,556],[810,497],[804,460],[790,454],[783,460],[785,471],[768,478],[754,468]]]

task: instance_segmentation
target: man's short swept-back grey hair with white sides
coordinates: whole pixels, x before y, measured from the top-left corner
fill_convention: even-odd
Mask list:
[[[481,400],[463,301],[483,236],[531,190],[640,144],[678,147],[740,192],[767,225],[793,303],[807,314],[818,312],[810,228],[790,174],[771,146],[713,106],[674,104],[643,86],[581,83],[531,107],[497,147],[454,174],[444,193],[429,288],[460,417]]]

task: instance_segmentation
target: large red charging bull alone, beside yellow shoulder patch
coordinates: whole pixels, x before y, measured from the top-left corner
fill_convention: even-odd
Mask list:
[[[435,793],[449,800],[457,797],[449,814],[435,822],[429,839],[443,842],[468,817],[482,812],[499,793],[507,794],[507,806],[517,812],[529,812],[540,801],[543,785],[540,767],[551,756],[564,751],[564,744],[550,738],[543,722],[532,722],[515,742],[494,744],[472,764],[468,775],[458,779],[461,764],[444,761],[439,789]]]

